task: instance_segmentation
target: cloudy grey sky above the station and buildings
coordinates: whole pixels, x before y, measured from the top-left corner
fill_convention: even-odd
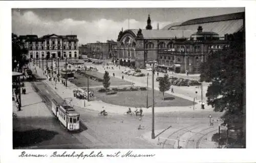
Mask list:
[[[12,9],[17,35],[77,35],[79,44],[116,40],[119,31],[145,29],[148,14],[157,29],[179,21],[242,12],[244,8],[36,8]],[[129,23],[128,23],[129,22]]]

